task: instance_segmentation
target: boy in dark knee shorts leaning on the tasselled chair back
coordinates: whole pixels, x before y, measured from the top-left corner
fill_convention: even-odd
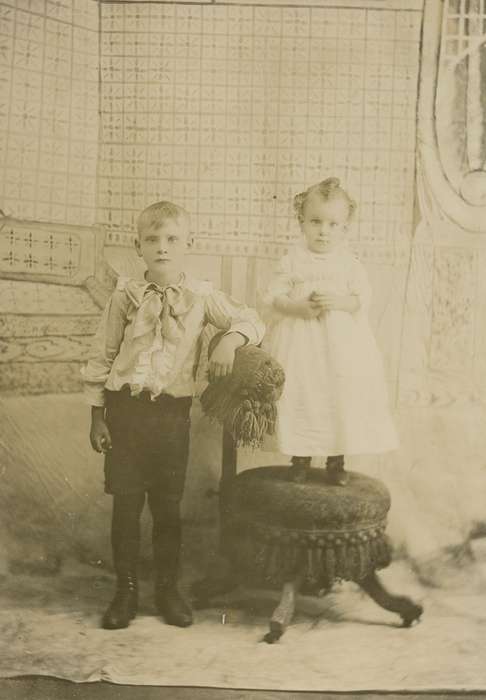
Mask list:
[[[235,350],[258,344],[264,326],[243,304],[209,282],[186,276],[192,246],[189,216],[170,202],[147,207],[137,222],[145,281],[120,279],[102,316],[95,354],[84,372],[92,406],[90,440],[105,454],[105,492],[113,495],[112,547],[117,590],[105,629],[127,627],[137,612],[140,516],[152,514],[155,603],[168,624],[187,627],[181,597],[180,501],[189,450],[189,412],[201,334],[207,323],[227,331],[211,355],[209,378],[231,372]]]

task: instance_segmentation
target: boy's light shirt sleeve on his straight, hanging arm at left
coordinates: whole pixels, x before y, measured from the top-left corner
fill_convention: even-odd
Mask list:
[[[123,340],[128,304],[126,293],[115,289],[102,313],[91,358],[82,370],[84,396],[90,406],[105,405],[105,384]]]

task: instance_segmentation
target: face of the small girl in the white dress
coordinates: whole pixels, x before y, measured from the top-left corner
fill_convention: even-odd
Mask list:
[[[327,253],[346,238],[349,205],[344,197],[323,199],[312,194],[307,199],[300,228],[313,253]]]

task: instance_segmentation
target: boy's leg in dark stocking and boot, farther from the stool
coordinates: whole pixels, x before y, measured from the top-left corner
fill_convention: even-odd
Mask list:
[[[115,597],[103,616],[102,627],[116,630],[128,627],[137,614],[137,564],[140,549],[140,515],[145,494],[113,496],[111,543],[117,577]]]

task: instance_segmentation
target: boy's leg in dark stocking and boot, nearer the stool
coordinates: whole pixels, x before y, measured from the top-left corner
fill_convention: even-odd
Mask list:
[[[155,605],[167,624],[188,627],[192,624],[192,611],[177,587],[181,552],[180,500],[154,492],[149,492],[148,500],[153,518]]]

